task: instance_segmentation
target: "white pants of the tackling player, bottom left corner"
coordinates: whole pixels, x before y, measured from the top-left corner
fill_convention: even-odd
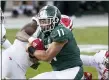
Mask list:
[[[2,75],[2,79],[4,78],[26,79],[23,70],[11,57],[8,56],[8,54],[2,54],[1,58],[2,58],[2,68],[1,68],[2,73],[0,75]]]

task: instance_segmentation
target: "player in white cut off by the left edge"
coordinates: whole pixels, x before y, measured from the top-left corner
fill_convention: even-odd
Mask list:
[[[6,29],[4,27],[4,15],[2,13],[2,10],[0,8],[0,45],[3,46],[5,49],[9,48],[11,46],[11,43],[6,38]]]

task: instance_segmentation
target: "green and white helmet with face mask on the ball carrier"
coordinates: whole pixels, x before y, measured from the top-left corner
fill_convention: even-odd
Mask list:
[[[52,31],[60,22],[61,12],[55,6],[44,6],[37,15],[39,26],[43,32]]]

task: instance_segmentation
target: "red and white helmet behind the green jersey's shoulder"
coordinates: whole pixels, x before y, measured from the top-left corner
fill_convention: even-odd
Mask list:
[[[61,15],[60,23],[71,31],[73,30],[73,21],[69,16]]]

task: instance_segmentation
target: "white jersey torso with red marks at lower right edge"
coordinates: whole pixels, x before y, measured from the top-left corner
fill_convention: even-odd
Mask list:
[[[94,55],[94,60],[97,63],[95,66],[98,70],[98,78],[101,79],[107,79],[109,70],[105,67],[105,60],[106,60],[106,54],[108,53],[107,50],[100,50]],[[109,53],[108,53],[109,54]]]

